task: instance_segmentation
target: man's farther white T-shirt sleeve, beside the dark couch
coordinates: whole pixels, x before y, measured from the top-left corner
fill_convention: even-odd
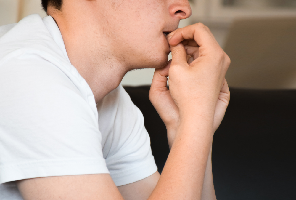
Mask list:
[[[112,146],[108,152],[103,148],[103,153],[106,154],[107,167],[113,181],[116,186],[120,186],[152,175],[157,171],[157,166],[152,156],[150,137],[144,127],[143,114],[121,85],[105,98],[105,102],[112,102],[112,98],[118,99],[112,128]],[[108,105],[105,105],[104,109],[107,108]]]

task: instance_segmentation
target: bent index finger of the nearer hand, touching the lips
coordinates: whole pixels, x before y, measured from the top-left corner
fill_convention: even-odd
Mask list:
[[[194,39],[198,46],[216,46],[217,42],[213,38],[212,34],[209,33],[208,29],[202,23],[186,26],[179,28],[168,36],[168,42],[170,45],[175,46],[183,40]]]

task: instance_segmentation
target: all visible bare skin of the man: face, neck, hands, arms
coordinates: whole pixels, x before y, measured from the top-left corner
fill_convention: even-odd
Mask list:
[[[229,102],[230,60],[203,24],[175,30],[191,15],[188,1],[64,0],[48,14],[96,102],[131,69],[156,68],[149,98],[167,127],[170,154],[161,175],[119,187],[109,174],[20,180],[23,198],[216,199],[211,148]]]

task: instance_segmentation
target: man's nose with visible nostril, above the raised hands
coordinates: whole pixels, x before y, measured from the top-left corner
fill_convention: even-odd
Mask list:
[[[169,12],[171,16],[177,17],[180,20],[191,16],[191,7],[188,0],[176,0],[170,4]]]

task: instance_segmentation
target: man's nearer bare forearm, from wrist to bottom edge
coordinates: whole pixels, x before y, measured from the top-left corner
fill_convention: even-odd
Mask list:
[[[203,117],[180,123],[160,180],[149,199],[200,199],[213,137]]]

